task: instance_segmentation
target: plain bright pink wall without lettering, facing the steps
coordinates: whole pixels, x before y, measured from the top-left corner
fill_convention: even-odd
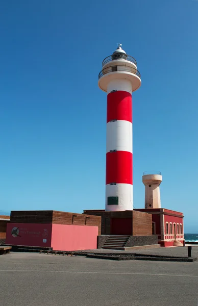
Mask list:
[[[52,224],[54,250],[75,251],[97,248],[97,226]]]

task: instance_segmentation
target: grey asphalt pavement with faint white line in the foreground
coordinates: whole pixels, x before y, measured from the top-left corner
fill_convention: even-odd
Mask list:
[[[111,261],[38,253],[0,257],[5,306],[197,306],[198,262]]]

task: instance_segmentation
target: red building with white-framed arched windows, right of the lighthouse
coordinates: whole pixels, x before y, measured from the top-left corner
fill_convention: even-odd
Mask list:
[[[152,232],[158,235],[161,246],[180,246],[184,244],[183,213],[165,208],[135,209],[152,214]]]

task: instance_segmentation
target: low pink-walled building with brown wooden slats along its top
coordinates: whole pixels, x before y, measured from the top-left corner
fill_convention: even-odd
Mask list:
[[[101,217],[58,211],[11,211],[6,244],[70,251],[97,248]]]

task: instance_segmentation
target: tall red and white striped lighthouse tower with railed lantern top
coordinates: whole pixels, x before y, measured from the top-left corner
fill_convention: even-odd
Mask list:
[[[136,60],[118,44],[98,79],[107,92],[105,209],[133,210],[132,92],[141,85]]]

